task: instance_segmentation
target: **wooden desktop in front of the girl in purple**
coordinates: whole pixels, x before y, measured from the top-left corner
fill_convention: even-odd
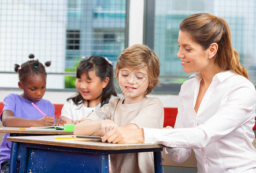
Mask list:
[[[24,127],[1,127],[0,133],[21,133],[21,134],[73,134],[73,131],[55,130],[55,129],[28,129],[20,130]]]

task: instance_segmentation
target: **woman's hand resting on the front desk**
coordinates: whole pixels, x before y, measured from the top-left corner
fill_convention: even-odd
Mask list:
[[[102,142],[118,143],[118,144],[138,144],[144,142],[143,129],[129,129],[118,127],[106,133],[102,137]]]

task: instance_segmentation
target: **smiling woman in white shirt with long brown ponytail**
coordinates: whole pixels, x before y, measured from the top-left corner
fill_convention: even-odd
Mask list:
[[[177,57],[192,74],[179,93],[175,128],[115,129],[102,141],[158,142],[183,162],[194,150],[198,172],[256,172],[255,86],[231,44],[227,22],[208,13],[180,24]]]

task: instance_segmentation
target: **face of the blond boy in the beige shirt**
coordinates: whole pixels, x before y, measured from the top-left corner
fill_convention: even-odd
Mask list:
[[[146,67],[138,70],[123,68],[118,73],[118,83],[125,96],[125,103],[137,103],[144,98],[149,87]]]

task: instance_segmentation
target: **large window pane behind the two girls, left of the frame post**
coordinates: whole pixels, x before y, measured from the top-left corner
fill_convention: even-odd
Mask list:
[[[14,63],[30,53],[51,61],[49,74],[75,76],[81,57],[91,55],[115,64],[125,45],[126,13],[126,0],[0,1],[0,74],[14,73]]]

